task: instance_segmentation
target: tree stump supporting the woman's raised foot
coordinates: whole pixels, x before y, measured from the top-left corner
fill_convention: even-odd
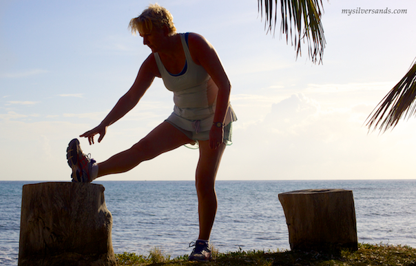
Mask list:
[[[104,190],[91,183],[23,185],[19,266],[116,265]]]

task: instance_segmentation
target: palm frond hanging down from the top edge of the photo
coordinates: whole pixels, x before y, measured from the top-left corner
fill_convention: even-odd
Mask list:
[[[278,21],[278,0],[258,0],[258,12],[263,18],[267,33],[275,32]],[[301,44],[307,43],[309,58],[313,63],[322,63],[325,37],[321,23],[322,0],[280,0],[282,22],[280,33],[286,34],[286,41],[295,46],[296,59],[302,56]]]

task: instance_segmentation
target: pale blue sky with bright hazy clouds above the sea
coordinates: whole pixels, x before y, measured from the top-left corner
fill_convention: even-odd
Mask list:
[[[149,1],[0,0],[0,181],[70,181],[67,144],[100,123],[149,53],[127,26]],[[324,1],[323,64],[267,34],[256,0],[160,0],[178,32],[218,52],[232,84],[233,145],[217,180],[415,178],[416,120],[384,134],[366,118],[416,57],[415,1]],[[342,10],[406,14],[342,14]],[[128,149],[172,112],[154,81],[85,153]],[[102,181],[194,180],[198,150],[179,147]]]

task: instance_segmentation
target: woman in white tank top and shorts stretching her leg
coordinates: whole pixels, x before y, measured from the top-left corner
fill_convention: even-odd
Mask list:
[[[189,260],[211,259],[209,235],[216,216],[215,180],[221,156],[231,142],[231,123],[236,121],[229,94],[231,84],[214,47],[195,33],[176,33],[170,12],[157,4],[149,6],[129,23],[132,33],[143,37],[152,53],[141,65],[136,80],[105,119],[81,137],[98,143],[107,127],[121,119],[140,101],[155,77],[174,92],[174,112],[145,138],[125,150],[96,163],[83,154],[79,141],[67,148],[72,181],[91,182],[107,174],[127,172],[139,163],[185,144],[198,144],[196,165],[199,236]]]

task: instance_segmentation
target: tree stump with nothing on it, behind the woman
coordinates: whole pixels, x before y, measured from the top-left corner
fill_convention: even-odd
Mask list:
[[[351,190],[298,190],[279,194],[291,249],[357,250],[357,223]]]

